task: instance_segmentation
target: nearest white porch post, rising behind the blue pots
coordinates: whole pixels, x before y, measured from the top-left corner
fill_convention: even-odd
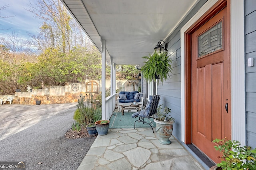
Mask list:
[[[101,53],[101,119],[105,120],[106,119],[106,41],[104,39],[101,40],[102,43],[102,53]]]

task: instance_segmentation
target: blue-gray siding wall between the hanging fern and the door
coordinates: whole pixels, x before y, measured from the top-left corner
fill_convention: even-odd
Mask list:
[[[200,0],[198,4],[191,10],[190,14],[178,25],[174,32],[168,37],[168,51],[177,50],[177,54],[171,53],[173,59],[173,71],[170,73],[170,78],[164,83],[158,84],[158,94],[161,95],[160,104],[170,107],[171,116],[175,118],[173,135],[181,140],[181,70],[180,70],[180,29],[187,23],[194,14],[205,4],[207,0]],[[177,63],[175,62],[177,55]]]

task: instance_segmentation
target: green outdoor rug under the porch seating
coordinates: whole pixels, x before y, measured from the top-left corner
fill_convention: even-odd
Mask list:
[[[114,112],[110,117],[109,128],[134,128],[134,121],[138,119],[139,117],[132,117],[132,112],[124,113],[124,115],[122,115],[122,112]],[[153,121],[151,125],[152,127],[156,127],[154,119],[144,119],[144,121],[147,121],[148,123]],[[150,127],[150,125],[136,121],[136,128],[137,127]]]

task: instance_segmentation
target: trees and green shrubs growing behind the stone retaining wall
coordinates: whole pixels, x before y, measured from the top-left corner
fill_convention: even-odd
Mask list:
[[[6,8],[4,6],[1,9]],[[42,19],[37,35],[29,33],[24,41],[15,31],[0,38],[0,94],[14,94],[16,88],[26,91],[44,85],[100,80],[101,55],[84,31],[70,16],[60,0],[36,0],[30,12]],[[121,66],[122,79],[138,73],[134,66]],[[106,65],[106,79],[110,66]]]

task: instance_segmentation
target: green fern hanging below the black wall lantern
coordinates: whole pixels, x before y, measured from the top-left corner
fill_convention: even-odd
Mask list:
[[[156,81],[156,79],[163,82],[170,77],[169,73],[172,72],[172,60],[169,59],[167,52],[157,53],[154,51],[149,57],[144,56],[142,58],[148,59],[141,68],[143,77],[148,82]]]

